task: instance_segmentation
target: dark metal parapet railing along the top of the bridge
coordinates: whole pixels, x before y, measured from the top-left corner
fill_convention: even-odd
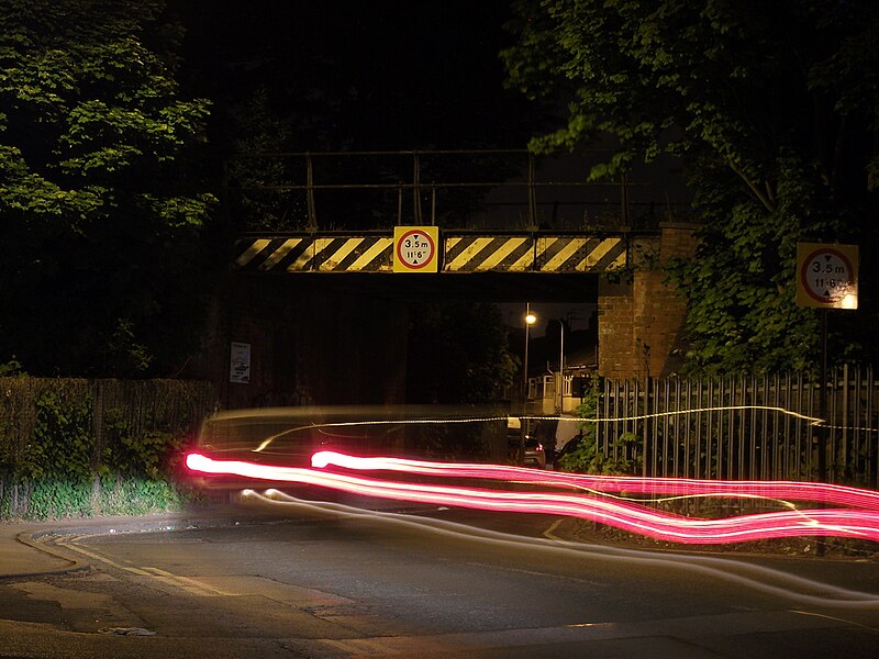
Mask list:
[[[590,181],[608,152],[526,149],[263,153],[236,156],[227,193],[245,231],[652,228],[683,203],[665,183]],[[677,200],[677,201],[675,201]]]

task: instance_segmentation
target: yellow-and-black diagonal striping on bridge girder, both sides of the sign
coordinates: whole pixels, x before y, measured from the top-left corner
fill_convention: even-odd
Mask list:
[[[479,236],[441,239],[445,272],[605,272],[626,264],[621,236]],[[393,237],[242,238],[235,265],[274,272],[391,272]]]

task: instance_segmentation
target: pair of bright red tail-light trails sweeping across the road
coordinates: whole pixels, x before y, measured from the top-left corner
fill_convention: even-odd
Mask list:
[[[332,459],[331,459],[332,458]],[[371,460],[357,462],[356,460]],[[739,490],[736,496],[752,495],[761,498],[791,498],[792,493],[802,494],[798,499],[811,501],[842,503],[864,502],[867,505],[850,509],[786,510],[772,513],[759,513],[732,516],[723,520],[688,518],[678,515],[658,513],[644,505],[599,499],[593,495],[570,494],[564,492],[510,492],[479,488],[461,488],[453,485],[434,485],[324,472],[316,469],[257,465],[235,460],[212,460],[199,454],[187,456],[187,467],[193,471],[214,474],[232,474],[265,481],[296,482],[331,488],[349,493],[378,496],[398,501],[412,501],[437,505],[453,505],[488,511],[541,513],[566,515],[615,526],[631,533],[637,533],[660,540],[683,544],[725,544],[764,538],[793,536],[838,536],[879,541],[879,505],[876,493],[854,488],[839,489],[835,485],[820,483],[731,483],[730,481],[678,481],[677,479],[622,479],[612,477],[588,477],[582,474],[553,474],[527,469],[515,469],[485,465],[453,465],[438,462],[419,462],[391,458],[353,458],[342,454],[322,453],[315,456],[315,465],[335,463],[353,469],[360,465],[364,469],[391,469],[468,478],[510,479],[541,484],[567,487],[587,487],[599,490],[604,487],[609,491],[656,492],[656,488],[666,488],[680,494],[681,489],[698,494],[731,495],[731,489]],[[385,466],[382,466],[385,465]],[[392,465],[393,467],[389,467]],[[435,470],[435,471],[434,471]],[[507,476],[501,476],[505,473]],[[531,476],[527,476],[527,474]],[[489,476],[491,474],[491,476]],[[570,479],[568,477],[571,477]],[[585,479],[585,480],[583,480]],[[657,482],[658,481],[658,482]],[[624,487],[623,487],[624,484]],[[716,490],[712,489],[716,485]],[[811,485],[815,485],[812,488]],[[614,488],[619,488],[614,490]]]

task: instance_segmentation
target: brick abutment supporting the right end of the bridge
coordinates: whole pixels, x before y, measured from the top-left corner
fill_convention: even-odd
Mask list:
[[[696,227],[664,224],[658,238],[635,243],[635,269],[619,282],[599,283],[599,375],[614,378],[664,377],[682,358],[686,306],[666,284],[663,267],[671,258],[693,256]]]

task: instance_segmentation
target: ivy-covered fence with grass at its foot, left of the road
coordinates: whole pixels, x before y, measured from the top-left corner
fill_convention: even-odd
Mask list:
[[[0,518],[138,514],[213,409],[208,382],[0,378]]]

